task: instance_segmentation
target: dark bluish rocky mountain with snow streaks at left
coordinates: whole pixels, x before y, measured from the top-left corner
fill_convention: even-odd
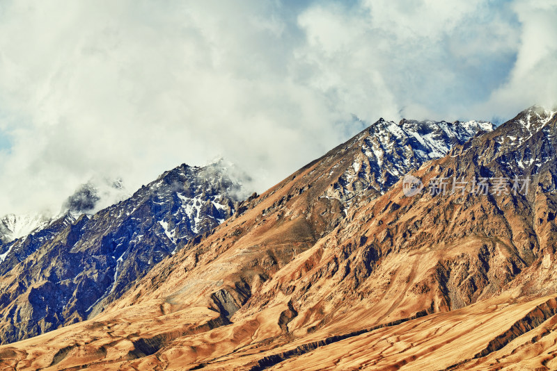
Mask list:
[[[180,165],[118,204],[77,219],[70,211],[18,240],[15,256],[49,236],[1,279],[3,343],[93,317],[164,257],[230,217],[243,190],[228,167]],[[68,205],[90,209],[91,199],[86,186]]]

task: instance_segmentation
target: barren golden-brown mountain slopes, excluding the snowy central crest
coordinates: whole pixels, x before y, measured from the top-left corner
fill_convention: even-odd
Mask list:
[[[505,142],[526,117],[524,140]],[[246,201],[94,320],[0,347],[3,364],[437,370],[533,354],[528,336],[551,329],[557,307],[544,297],[557,282],[551,117],[525,111],[415,173],[425,184],[532,175],[527,196],[405,197],[399,181],[349,204],[331,192],[362,153],[356,136]],[[362,188],[348,179],[343,189]]]

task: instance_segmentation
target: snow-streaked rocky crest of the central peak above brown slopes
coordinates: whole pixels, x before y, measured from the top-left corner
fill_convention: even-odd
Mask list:
[[[381,118],[340,149],[359,154],[323,196],[339,199],[347,208],[357,195],[382,194],[407,172],[446,156],[455,145],[463,145],[477,133],[493,130],[491,122],[476,120],[402,119],[396,123]]]

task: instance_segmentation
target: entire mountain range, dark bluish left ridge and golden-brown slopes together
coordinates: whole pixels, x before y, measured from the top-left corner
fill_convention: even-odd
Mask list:
[[[0,347],[0,365],[556,368],[554,111],[495,129],[380,119],[241,202],[226,176],[187,193],[193,170],[206,181],[167,172],[3,275],[3,341],[43,334]]]

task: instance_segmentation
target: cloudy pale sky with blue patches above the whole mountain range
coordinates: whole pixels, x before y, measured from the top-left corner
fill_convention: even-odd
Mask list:
[[[262,192],[379,117],[557,102],[556,0],[0,1],[0,215],[226,158]]]

